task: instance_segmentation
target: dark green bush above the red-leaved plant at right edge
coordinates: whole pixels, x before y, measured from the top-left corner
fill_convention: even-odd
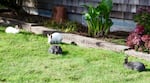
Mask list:
[[[150,34],[150,8],[138,8],[133,20],[144,27],[145,34]]]

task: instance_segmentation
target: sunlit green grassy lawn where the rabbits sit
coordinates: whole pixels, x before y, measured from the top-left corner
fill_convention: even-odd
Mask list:
[[[0,27],[0,82],[4,83],[149,83],[150,71],[122,65],[124,54],[61,44],[64,56],[48,53],[47,38]],[[150,68],[150,63],[134,57]]]

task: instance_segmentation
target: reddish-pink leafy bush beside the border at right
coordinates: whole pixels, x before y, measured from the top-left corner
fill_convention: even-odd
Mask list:
[[[150,35],[143,35],[144,27],[137,25],[135,30],[129,34],[126,45],[131,49],[150,52]]]

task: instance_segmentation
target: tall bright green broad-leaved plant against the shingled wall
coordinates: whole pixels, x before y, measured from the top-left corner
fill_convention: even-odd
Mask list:
[[[84,5],[84,7],[87,8],[87,12],[84,13],[84,16],[88,25],[89,36],[97,37],[108,34],[113,24],[109,16],[112,5],[112,0],[102,0],[97,7]]]

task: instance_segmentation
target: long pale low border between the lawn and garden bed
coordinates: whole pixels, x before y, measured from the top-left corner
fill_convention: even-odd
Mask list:
[[[55,29],[49,29],[49,28],[46,28],[43,26],[32,26],[31,23],[25,23],[22,21],[14,20],[14,19],[0,17],[0,23],[1,22],[7,23],[7,21],[9,22],[9,24],[11,24],[11,23],[12,24],[13,23],[20,24],[21,27],[23,27],[23,29],[33,32],[35,34],[46,35],[46,34],[51,34],[53,32],[61,32],[61,31],[57,31]],[[84,37],[84,36],[80,36],[80,35],[76,35],[76,34],[62,33],[62,35],[63,35],[63,42],[65,42],[65,43],[70,43],[70,42],[74,41],[79,46],[91,47],[91,48],[102,48],[102,49],[113,50],[113,51],[117,51],[117,52],[123,52],[127,55],[139,57],[139,58],[150,61],[150,54],[146,54],[143,52],[137,52],[135,50],[124,51],[124,49],[129,48],[127,46],[117,45],[117,44],[106,42],[103,40],[98,40],[96,38]]]

